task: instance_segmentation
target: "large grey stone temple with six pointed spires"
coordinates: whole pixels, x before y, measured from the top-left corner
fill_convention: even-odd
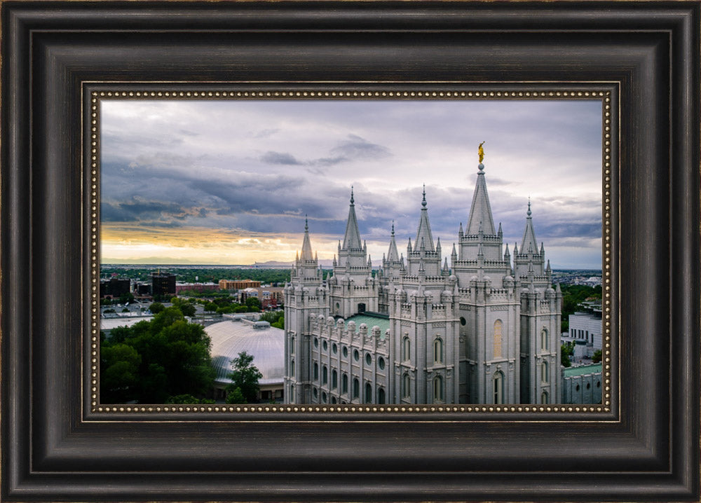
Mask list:
[[[285,286],[285,397],[295,404],[558,403],[559,285],[536,242],[503,244],[484,165],[467,226],[448,257],[430,229],[426,191],[414,242],[398,253],[394,226],[376,275],[354,196],[333,270],[322,278],[305,223]]]

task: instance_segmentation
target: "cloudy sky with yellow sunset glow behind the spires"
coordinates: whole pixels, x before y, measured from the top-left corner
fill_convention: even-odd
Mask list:
[[[375,265],[406,253],[422,185],[449,254],[477,146],[513,248],[531,197],[553,268],[601,268],[601,102],[129,101],[101,104],[102,263],[292,261],[308,215],[332,259],[351,186]]]

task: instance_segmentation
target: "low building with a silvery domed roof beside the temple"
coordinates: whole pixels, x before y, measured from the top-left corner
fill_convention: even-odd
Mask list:
[[[205,327],[212,339],[212,365],[215,377],[215,399],[226,397],[226,387],[231,384],[231,360],[240,352],[253,356],[253,365],[263,374],[259,379],[259,401],[283,401],[285,377],[285,332],[275,329],[268,322],[230,317]]]

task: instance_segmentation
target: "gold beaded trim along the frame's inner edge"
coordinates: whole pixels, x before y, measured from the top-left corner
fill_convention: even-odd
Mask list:
[[[97,398],[98,352],[100,350],[99,291],[100,267],[97,257],[97,200],[99,177],[100,99],[335,99],[335,98],[393,98],[393,99],[464,99],[464,98],[528,98],[528,99],[601,99],[603,105],[604,151],[602,163],[604,203],[604,259],[602,264],[604,312],[604,348],[602,404],[594,405],[100,405]],[[542,91],[386,91],[386,90],[266,90],[266,91],[92,91],[90,92],[90,412],[91,413],[610,413],[611,412],[611,214],[618,209],[611,201],[611,92],[600,90],[542,90]],[[620,114],[619,114],[620,115]],[[619,390],[620,393],[620,390]]]

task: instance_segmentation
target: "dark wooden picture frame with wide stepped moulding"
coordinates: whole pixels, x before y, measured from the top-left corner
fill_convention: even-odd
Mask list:
[[[700,7],[2,4],[1,497],[698,501]],[[595,416],[90,413],[88,81],[610,88],[620,401]]]

